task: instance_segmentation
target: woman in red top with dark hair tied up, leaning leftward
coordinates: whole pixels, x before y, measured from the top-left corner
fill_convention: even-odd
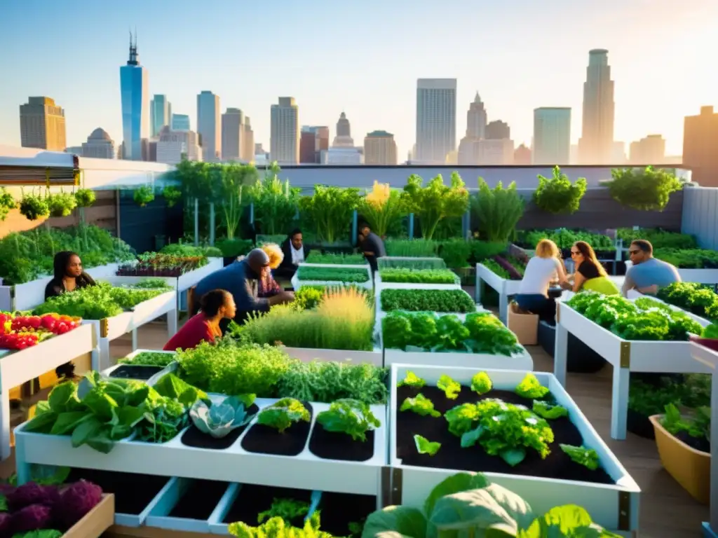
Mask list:
[[[237,306],[231,293],[224,290],[209,291],[200,298],[200,313],[192,316],[162,349],[194,349],[202,341],[214,343],[215,338],[222,336],[220,321],[232,319],[236,313]]]

